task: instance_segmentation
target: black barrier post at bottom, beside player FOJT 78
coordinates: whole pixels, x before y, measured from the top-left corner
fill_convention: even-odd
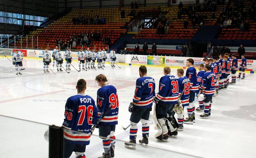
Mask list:
[[[49,158],[63,158],[63,130],[55,125],[49,127]]]

